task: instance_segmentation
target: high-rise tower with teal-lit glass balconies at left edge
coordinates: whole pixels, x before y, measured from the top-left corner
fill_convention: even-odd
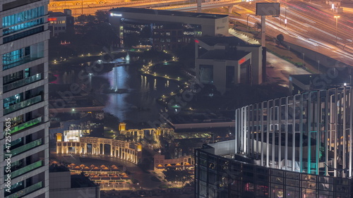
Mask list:
[[[0,1],[0,197],[49,197],[47,4]]]

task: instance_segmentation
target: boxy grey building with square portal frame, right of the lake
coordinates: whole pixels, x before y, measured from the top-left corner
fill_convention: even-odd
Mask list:
[[[237,37],[195,39],[196,79],[224,94],[234,85],[260,85],[262,47]]]

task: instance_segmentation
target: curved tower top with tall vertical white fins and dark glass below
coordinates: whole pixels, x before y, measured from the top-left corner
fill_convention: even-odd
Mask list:
[[[236,110],[235,140],[196,151],[196,197],[353,197],[352,87]]]

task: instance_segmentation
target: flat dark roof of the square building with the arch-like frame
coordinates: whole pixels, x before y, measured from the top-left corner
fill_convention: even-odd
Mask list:
[[[244,56],[250,54],[249,51],[241,50],[225,50],[225,49],[215,49],[206,52],[201,55],[201,59],[212,59],[212,60],[233,60],[239,61]]]

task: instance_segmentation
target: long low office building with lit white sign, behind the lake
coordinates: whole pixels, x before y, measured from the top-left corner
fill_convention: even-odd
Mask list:
[[[138,39],[137,47],[177,49],[201,36],[227,35],[228,16],[143,8],[114,8],[109,23],[115,27],[120,44]]]

